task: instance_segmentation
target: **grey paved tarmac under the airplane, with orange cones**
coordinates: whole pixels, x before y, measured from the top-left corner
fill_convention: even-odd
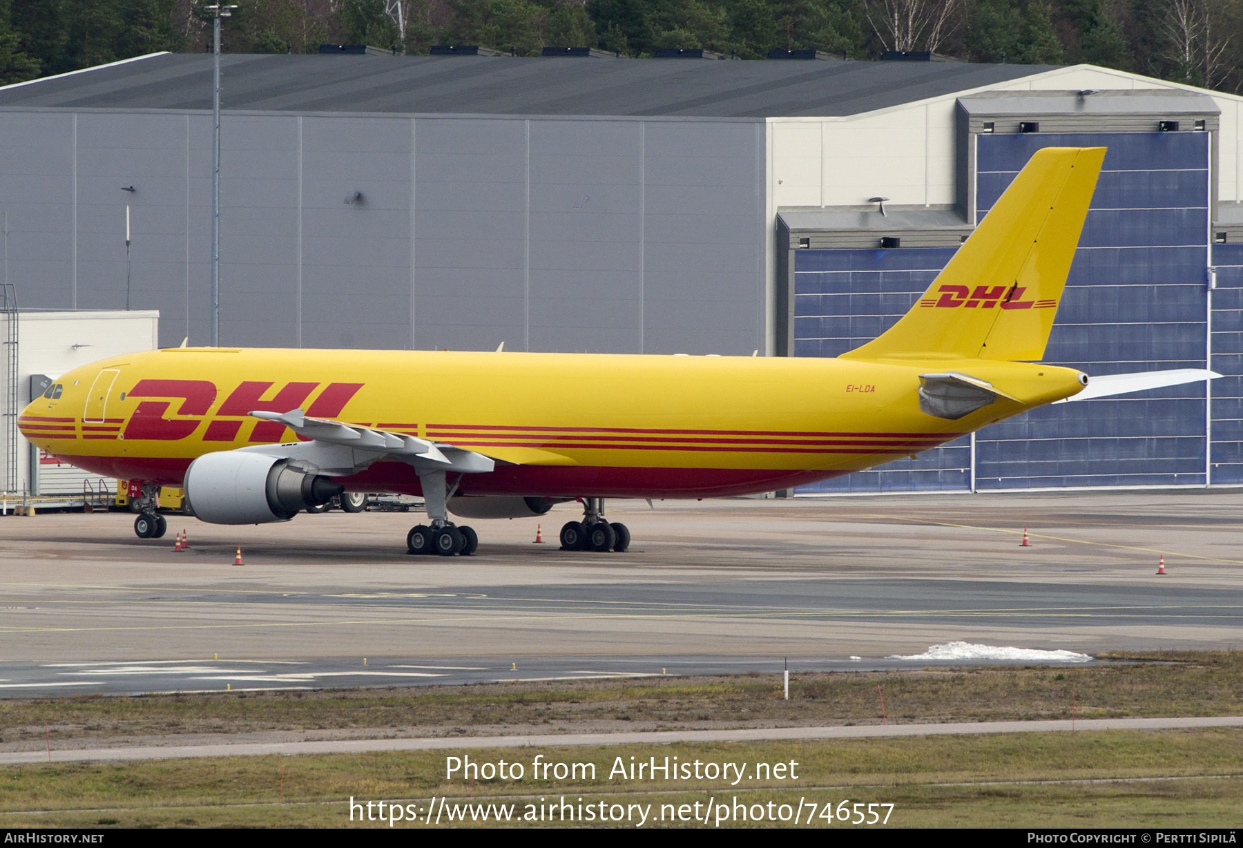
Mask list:
[[[0,698],[1243,644],[1241,490],[609,501],[626,553],[558,550],[573,506],[472,522],[477,555],[452,558],[405,553],[418,514],[169,516],[163,540],[119,512],[0,518]]]

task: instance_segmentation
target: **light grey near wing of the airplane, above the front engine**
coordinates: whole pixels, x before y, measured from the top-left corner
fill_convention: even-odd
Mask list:
[[[302,409],[287,413],[252,412],[250,414],[266,422],[283,424],[308,441],[254,445],[241,450],[301,461],[332,476],[357,474],[380,458],[400,460],[413,465],[416,471],[480,474],[491,471],[496,465],[491,458],[472,450],[428,441],[404,433],[390,433],[389,430],[342,424],[323,418],[310,418]]]

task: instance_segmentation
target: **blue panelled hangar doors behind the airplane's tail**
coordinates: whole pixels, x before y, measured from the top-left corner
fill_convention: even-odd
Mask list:
[[[979,134],[983,218],[1043,147],[1108,147],[1045,362],[1089,374],[1213,367],[1204,384],[1045,407],[917,459],[797,494],[1181,486],[1243,480],[1243,250],[1209,292],[1209,133]],[[794,251],[794,356],[837,356],[894,325],[953,249]],[[1208,394],[1212,394],[1209,400]],[[1212,409],[1212,417],[1208,409]],[[1212,451],[1208,440],[1212,438]]]

